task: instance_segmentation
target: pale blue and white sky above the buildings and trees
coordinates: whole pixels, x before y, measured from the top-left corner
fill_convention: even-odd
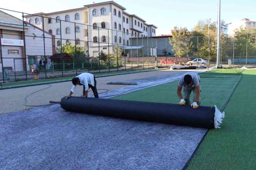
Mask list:
[[[2,0],[0,8],[29,14],[38,12],[56,12],[66,9],[81,8],[93,2],[108,0]],[[193,29],[199,20],[216,21],[218,0],[114,0],[126,8],[129,14],[136,14],[148,24],[158,27],[157,35],[170,34],[177,27]],[[42,3],[44,2],[44,3]],[[0,9],[1,10],[1,9]],[[6,11],[4,11],[6,12]],[[9,14],[20,17],[12,12]],[[256,20],[256,0],[221,0],[221,20],[249,18]]]

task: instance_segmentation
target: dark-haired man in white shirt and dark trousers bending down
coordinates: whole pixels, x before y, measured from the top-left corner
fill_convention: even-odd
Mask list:
[[[93,95],[95,98],[99,98],[97,88],[96,88],[96,79],[93,74],[90,73],[81,73],[72,79],[73,86],[71,88],[70,94],[66,97],[66,99],[70,98],[76,89],[76,85],[84,86],[83,89],[83,97],[87,98],[88,90],[91,88],[93,90]]]

